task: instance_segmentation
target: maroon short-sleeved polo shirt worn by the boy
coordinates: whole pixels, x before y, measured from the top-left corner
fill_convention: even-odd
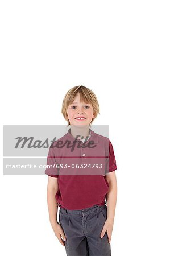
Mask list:
[[[49,148],[45,174],[58,178],[55,197],[61,208],[81,210],[105,204],[109,191],[105,175],[117,169],[114,150],[109,138],[89,130],[91,136],[84,143],[69,129]]]

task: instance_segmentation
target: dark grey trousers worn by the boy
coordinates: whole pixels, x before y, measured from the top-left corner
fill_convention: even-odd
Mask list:
[[[67,256],[111,256],[107,233],[100,237],[106,218],[106,204],[82,210],[60,207],[59,222],[66,236]]]

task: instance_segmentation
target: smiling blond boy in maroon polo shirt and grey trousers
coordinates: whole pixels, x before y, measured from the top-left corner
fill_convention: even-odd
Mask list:
[[[117,201],[114,171],[117,166],[109,139],[89,129],[99,113],[97,98],[85,86],[75,86],[64,97],[62,113],[71,128],[57,141],[61,142],[60,145],[63,142],[64,147],[57,147],[55,142],[49,148],[47,164],[59,164],[58,167],[65,164],[65,168],[54,165],[53,170],[45,170],[48,175],[49,220],[68,256],[111,256],[110,241]],[[103,154],[107,155],[106,145],[109,148],[109,173],[101,175],[99,164],[103,163]],[[97,163],[95,167],[99,168],[86,168],[94,161]],[[103,166],[106,167],[105,163]],[[60,223],[56,217],[58,205]]]

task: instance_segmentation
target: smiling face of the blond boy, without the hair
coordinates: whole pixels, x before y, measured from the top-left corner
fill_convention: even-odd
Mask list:
[[[80,94],[77,93],[73,103],[68,106],[67,118],[71,125],[90,125],[90,122],[95,117],[93,112],[93,106],[80,102]],[[77,117],[84,117],[85,119],[76,119]]]

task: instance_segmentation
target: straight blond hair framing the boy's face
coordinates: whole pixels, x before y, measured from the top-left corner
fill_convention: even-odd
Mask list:
[[[90,122],[90,125],[91,125],[92,122],[94,121],[94,119],[97,117],[97,115],[100,114],[99,113],[99,104],[98,104],[97,97],[94,94],[94,92],[92,92],[92,90],[90,90],[89,88],[87,88],[83,85],[74,86],[65,94],[63,104],[62,104],[61,113],[63,114],[65,120],[68,122],[68,126],[69,126],[70,122],[69,122],[69,119],[67,118],[67,109],[68,109],[68,106],[73,103],[74,98],[77,96],[78,93],[80,93],[80,101],[81,102],[84,101],[85,103],[92,104],[92,106],[93,106],[93,114],[95,117]]]

